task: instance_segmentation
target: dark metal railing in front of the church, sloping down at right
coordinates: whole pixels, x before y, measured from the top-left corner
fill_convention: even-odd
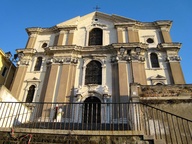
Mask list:
[[[166,143],[192,142],[192,121],[143,103],[0,103],[0,127],[139,131]]]

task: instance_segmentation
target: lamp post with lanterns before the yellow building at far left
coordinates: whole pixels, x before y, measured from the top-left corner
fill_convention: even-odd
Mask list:
[[[18,61],[18,58],[20,59],[21,57],[23,57],[23,55],[24,55],[24,54],[23,54],[23,52],[21,51],[21,52],[19,52],[18,54],[14,54],[12,60],[10,60],[10,58],[12,57],[11,52],[9,51],[9,52],[6,52],[6,53],[5,53],[5,57],[6,57],[8,60],[11,61],[11,65],[10,65],[10,67],[9,67],[9,69],[8,69],[7,74],[6,74],[5,81],[4,81],[4,83],[3,83],[4,86],[6,86],[7,79],[8,79],[8,77],[9,77],[9,73],[10,73],[11,68],[12,68],[12,66],[13,66],[13,62],[17,62],[17,61]]]

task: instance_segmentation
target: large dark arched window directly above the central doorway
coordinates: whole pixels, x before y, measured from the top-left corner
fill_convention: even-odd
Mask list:
[[[85,84],[101,84],[102,67],[98,61],[91,61],[87,64],[85,73]]]

